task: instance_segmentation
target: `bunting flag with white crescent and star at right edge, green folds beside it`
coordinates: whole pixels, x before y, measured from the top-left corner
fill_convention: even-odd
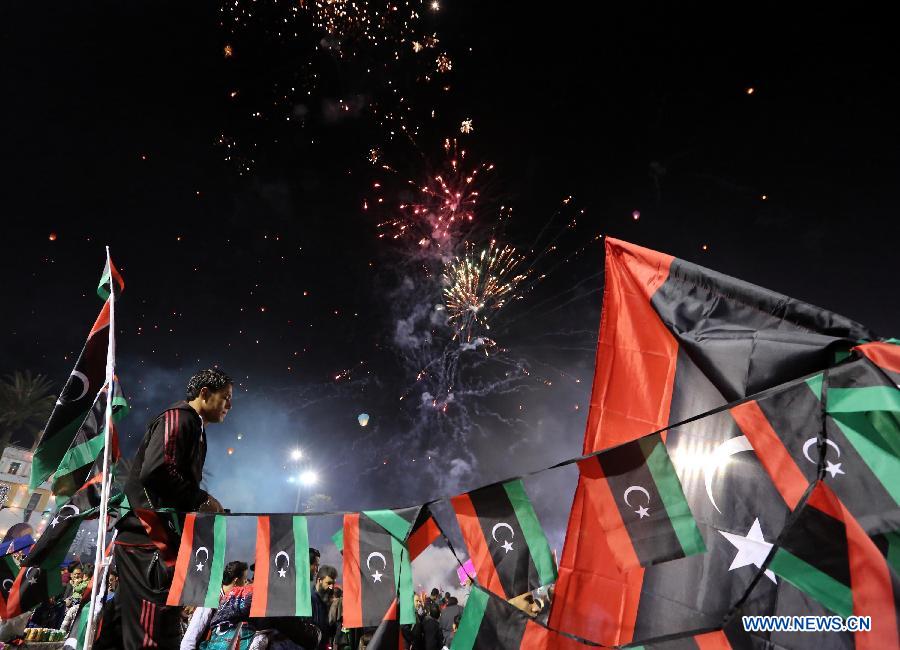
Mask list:
[[[891,346],[896,347],[896,346]],[[870,535],[900,521],[900,389],[861,356],[730,410],[786,502],[820,474]]]

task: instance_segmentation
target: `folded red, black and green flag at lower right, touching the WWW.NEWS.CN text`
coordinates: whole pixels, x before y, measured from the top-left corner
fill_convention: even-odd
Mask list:
[[[871,616],[858,647],[900,647],[898,575],[824,482],[779,537],[768,568],[835,614]]]

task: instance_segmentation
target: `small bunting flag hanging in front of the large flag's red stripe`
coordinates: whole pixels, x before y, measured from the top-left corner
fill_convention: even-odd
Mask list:
[[[620,569],[706,552],[658,433],[600,452],[578,467],[600,506],[600,525]]]

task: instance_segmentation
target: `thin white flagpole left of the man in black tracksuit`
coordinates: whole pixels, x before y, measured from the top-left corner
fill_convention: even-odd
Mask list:
[[[113,382],[115,381],[115,365],[116,365],[116,281],[112,274],[112,260],[109,256],[109,246],[106,247],[106,264],[110,269],[109,275],[109,345],[106,349],[106,422],[105,431],[103,433],[103,479],[101,480],[102,489],[100,492],[100,518],[97,524],[97,552],[94,554],[94,589],[99,592],[99,582],[101,575],[105,575],[104,568],[112,561],[107,558],[104,551],[106,549],[106,528],[107,528],[107,510],[109,509],[109,490],[111,487],[111,477],[109,475],[109,457],[110,447],[112,445],[112,411],[113,411]],[[110,554],[111,556],[112,554]],[[104,566],[105,565],[105,566]],[[97,599],[91,598],[90,609],[88,610],[88,622],[84,635],[84,648],[91,650],[94,645],[94,616]]]

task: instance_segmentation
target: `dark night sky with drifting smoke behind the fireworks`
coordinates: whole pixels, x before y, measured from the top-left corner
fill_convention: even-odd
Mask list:
[[[223,504],[293,510],[287,479],[312,468],[304,503],[353,509],[579,453],[597,235],[896,336],[900,74],[883,16],[605,5],[441,0],[410,28],[439,42],[416,53],[396,25],[386,43],[342,39],[284,1],[4,3],[0,371],[62,386],[109,244],[126,454],[218,364],[237,381],[210,431]],[[379,224],[446,166],[447,138],[483,167],[471,227],[436,253]],[[442,261],[491,239],[528,277],[481,332],[485,356],[434,306]],[[555,546],[563,474],[529,483]]]

